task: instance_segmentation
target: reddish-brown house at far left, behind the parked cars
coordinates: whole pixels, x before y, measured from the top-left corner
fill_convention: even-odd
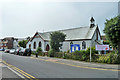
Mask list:
[[[1,49],[12,49],[12,48],[16,48],[17,45],[18,45],[17,38],[14,37],[6,37],[0,40]]]

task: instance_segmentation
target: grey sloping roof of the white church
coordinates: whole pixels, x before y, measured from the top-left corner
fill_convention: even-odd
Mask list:
[[[65,40],[80,40],[80,39],[92,39],[92,36],[94,35],[96,28],[97,26],[93,28],[79,27],[79,28],[65,29],[65,30],[59,30],[59,31],[66,34]],[[54,31],[39,33],[39,35],[44,40],[50,40],[50,33],[52,32]]]

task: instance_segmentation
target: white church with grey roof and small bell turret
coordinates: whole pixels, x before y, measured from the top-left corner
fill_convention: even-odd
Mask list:
[[[59,30],[66,34],[66,39],[63,42],[61,51],[67,51],[71,49],[71,44],[80,45],[80,50],[86,50],[90,46],[101,44],[101,34],[98,25],[95,25],[95,20],[92,17],[90,19],[90,26],[78,27],[72,29]],[[50,49],[50,33],[51,32],[36,32],[35,35],[28,41],[26,48],[31,48],[33,51],[37,47],[41,47],[44,52]]]

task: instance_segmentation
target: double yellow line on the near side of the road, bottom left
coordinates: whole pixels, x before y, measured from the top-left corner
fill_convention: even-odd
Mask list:
[[[6,66],[8,66],[9,68],[13,69],[14,71],[18,72],[19,74],[21,74],[22,76],[24,76],[25,78],[29,79],[29,80],[38,80],[36,79],[34,76],[24,72],[23,70],[11,65],[11,64],[8,64],[7,62],[5,61],[2,61]]]

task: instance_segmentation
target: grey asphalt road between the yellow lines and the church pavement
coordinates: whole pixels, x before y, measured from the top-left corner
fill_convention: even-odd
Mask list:
[[[35,78],[118,78],[117,71],[93,70],[73,67],[26,56],[2,54],[2,60],[34,76]]]

